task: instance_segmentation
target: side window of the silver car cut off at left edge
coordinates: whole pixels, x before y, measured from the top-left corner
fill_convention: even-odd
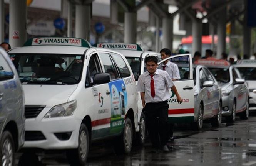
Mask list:
[[[12,79],[13,72],[5,58],[0,54],[0,81]]]

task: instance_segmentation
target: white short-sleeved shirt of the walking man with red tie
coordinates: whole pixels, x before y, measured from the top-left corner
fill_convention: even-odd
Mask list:
[[[151,96],[150,82],[151,76],[148,71],[139,76],[137,90],[138,92],[145,92],[146,103],[163,102],[170,98],[169,88],[174,86],[171,77],[166,71],[156,69],[153,76],[155,97]]]

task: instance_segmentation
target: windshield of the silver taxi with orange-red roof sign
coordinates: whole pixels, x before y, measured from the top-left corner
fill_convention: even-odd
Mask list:
[[[218,82],[224,82],[227,83],[230,81],[229,77],[229,69],[223,69],[223,68],[208,68],[209,71],[212,72],[214,77]]]

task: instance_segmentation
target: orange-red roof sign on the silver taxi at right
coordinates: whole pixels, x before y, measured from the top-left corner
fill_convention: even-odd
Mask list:
[[[215,58],[198,59],[194,64],[202,64],[206,66],[230,66],[228,61]]]

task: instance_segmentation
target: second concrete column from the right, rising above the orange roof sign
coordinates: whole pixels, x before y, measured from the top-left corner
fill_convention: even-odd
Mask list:
[[[217,58],[221,58],[221,53],[226,51],[226,12],[226,8],[219,12],[221,15],[217,23]]]

